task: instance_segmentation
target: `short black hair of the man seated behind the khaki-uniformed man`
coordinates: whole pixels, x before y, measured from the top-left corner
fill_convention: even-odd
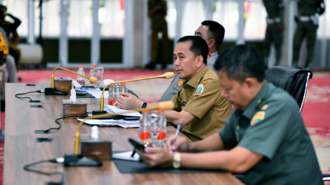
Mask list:
[[[215,21],[203,21],[201,25],[208,26],[208,39],[215,40],[215,49],[219,51],[223,38],[225,37],[225,28]]]

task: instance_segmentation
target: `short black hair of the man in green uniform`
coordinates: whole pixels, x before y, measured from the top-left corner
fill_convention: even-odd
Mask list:
[[[229,79],[240,83],[249,77],[264,81],[264,59],[253,46],[231,46],[215,61],[214,69],[226,72]]]

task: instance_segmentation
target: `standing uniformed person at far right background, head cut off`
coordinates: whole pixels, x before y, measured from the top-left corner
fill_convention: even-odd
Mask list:
[[[292,67],[298,68],[298,57],[301,43],[307,37],[307,61],[304,69],[310,69],[313,59],[316,31],[319,27],[319,16],[325,11],[326,6],[323,0],[298,0],[298,16],[296,34],[293,39],[293,61]]]

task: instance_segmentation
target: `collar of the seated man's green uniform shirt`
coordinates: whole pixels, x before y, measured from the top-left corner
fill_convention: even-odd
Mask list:
[[[267,97],[269,89],[269,83],[264,83],[264,86],[261,88],[256,97],[250,102],[248,107],[243,111],[243,115],[249,119],[252,119],[256,114],[256,110],[263,104],[263,101]]]

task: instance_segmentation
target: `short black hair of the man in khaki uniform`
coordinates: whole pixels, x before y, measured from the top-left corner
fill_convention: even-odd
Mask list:
[[[189,50],[195,54],[194,57],[201,55],[203,57],[203,63],[207,65],[208,46],[206,41],[198,36],[185,36],[179,39],[178,44],[188,41],[192,42]]]

